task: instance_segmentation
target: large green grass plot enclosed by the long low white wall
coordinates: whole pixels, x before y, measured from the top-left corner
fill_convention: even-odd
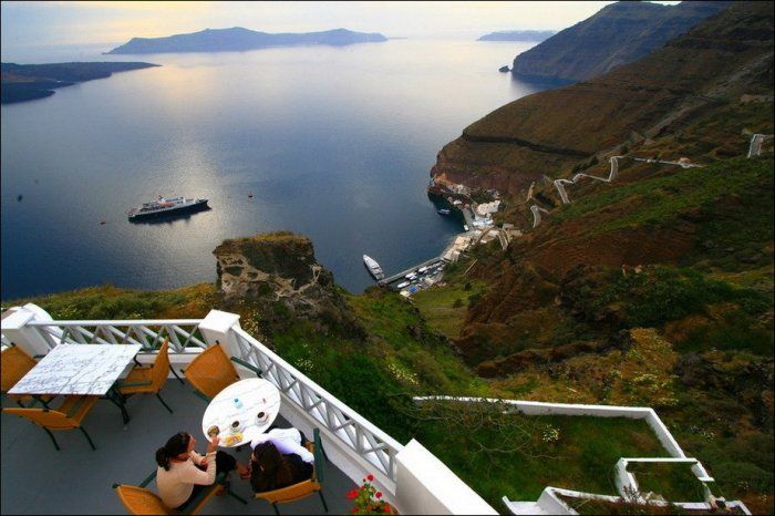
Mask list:
[[[454,404],[448,416],[456,421],[421,421],[417,440],[493,507],[504,495],[538,499],[546,486],[617,495],[613,466],[620,457],[668,456],[639,420],[500,414],[478,424],[471,410]],[[546,441],[552,429],[554,443]]]

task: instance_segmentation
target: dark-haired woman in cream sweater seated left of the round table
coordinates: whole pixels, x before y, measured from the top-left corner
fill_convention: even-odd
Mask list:
[[[240,475],[247,468],[226,452],[218,451],[219,437],[211,437],[205,456],[194,451],[196,440],[188,432],[178,432],[167,444],[156,451],[156,485],[158,494],[169,508],[180,508],[205,486],[213,485],[218,473],[237,469]]]

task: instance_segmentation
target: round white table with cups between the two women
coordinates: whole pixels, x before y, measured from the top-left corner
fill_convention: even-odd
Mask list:
[[[220,446],[240,446],[266,432],[279,413],[280,391],[272,383],[260,378],[240,380],[216,394],[207,405],[202,432],[211,441],[207,431],[218,426]],[[231,430],[235,421],[239,422],[237,431]]]

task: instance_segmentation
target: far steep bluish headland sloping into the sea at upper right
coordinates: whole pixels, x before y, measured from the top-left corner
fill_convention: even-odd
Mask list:
[[[582,81],[631,63],[730,2],[617,2],[514,59],[515,75]]]

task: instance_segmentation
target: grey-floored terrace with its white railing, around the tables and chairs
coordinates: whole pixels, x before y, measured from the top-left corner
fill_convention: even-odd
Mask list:
[[[280,390],[279,425],[291,424],[308,436],[320,429],[328,456],[323,495],[330,514],[350,512],[345,494],[368,473],[399,513],[496,514],[420,443],[397,443],[245,332],[238,318],[213,310],[203,320],[53,321],[39,307],[27,305],[3,314],[2,344],[12,342],[28,354],[41,355],[60,343],[133,343],[143,347],[138,360],[152,363],[155,350],[168,338],[170,363],[179,372],[219,341],[231,357],[261,370],[262,378]],[[256,375],[241,365],[237,369],[241,378]],[[153,396],[137,394],[127,401],[131,421],[126,424],[116,406],[99,402],[83,422],[96,451],[80,432],[55,432],[58,452],[43,430],[3,414],[2,513],[125,514],[113,493],[114,483],[138,485],[156,467],[156,448],[175,432],[187,430],[204,442],[199,429],[207,403],[172,375],[162,393],[173,414]],[[3,398],[3,406],[12,404]],[[230,452],[247,462],[247,446]],[[269,504],[252,499],[247,482],[232,478],[231,485],[248,505],[216,497],[203,514],[272,514]],[[155,484],[149,487],[154,489]],[[322,513],[322,506],[319,498],[310,497],[283,505],[281,512],[316,514]]]

